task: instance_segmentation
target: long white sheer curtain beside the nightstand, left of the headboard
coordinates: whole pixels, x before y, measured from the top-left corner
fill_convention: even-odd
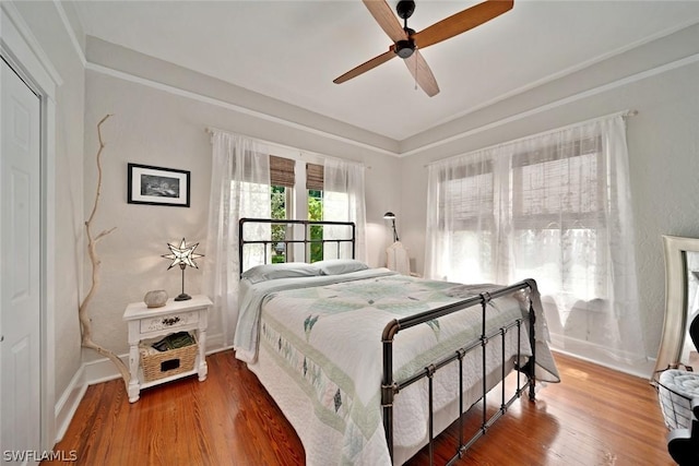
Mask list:
[[[262,144],[236,134],[214,131],[211,200],[204,261],[204,286],[213,300],[209,328],[221,331],[232,346],[238,321],[238,219],[270,218],[270,156]],[[246,228],[246,239],[269,239],[270,227]],[[264,249],[247,250],[244,268],[263,262]]]

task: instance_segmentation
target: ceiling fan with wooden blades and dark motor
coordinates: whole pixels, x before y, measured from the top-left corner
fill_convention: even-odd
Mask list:
[[[401,0],[398,2],[395,11],[398,16],[403,20],[401,26],[398,17],[393,15],[391,8],[386,0],[363,0],[364,4],[369,9],[374,19],[379,26],[393,40],[387,52],[372,58],[369,61],[347,71],[342,76],[333,80],[333,83],[341,84],[353,77],[365,73],[379,64],[386,63],[393,57],[398,56],[405,61],[407,69],[415,77],[417,84],[425,93],[433,97],[439,93],[437,80],[433,74],[427,61],[423,58],[419,49],[429,47],[448,38],[454,37],[461,33],[479,26],[493,20],[496,16],[512,9],[513,0],[486,0],[475,7],[471,7],[459,13],[441,20],[429,27],[416,33],[407,27],[407,19],[415,11],[415,2],[412,0]]]

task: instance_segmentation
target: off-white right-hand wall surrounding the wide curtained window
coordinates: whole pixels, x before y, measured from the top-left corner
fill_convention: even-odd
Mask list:
[[[433,160],[631,109],[627,121],[640,314],[654,358],[664,315],[661,235],[699,237],[699,26],[692,26],[500,101],[441,129],[436,144],[402,159],[402,239],[424,265],[427,169]],[[406,141],[438,141],[434,133]],[[535,277],[534,277],[535,278]]]

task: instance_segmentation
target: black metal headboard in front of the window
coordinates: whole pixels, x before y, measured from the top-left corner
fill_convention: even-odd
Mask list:
[[[273,238],[272,231],[274,227],[284,228],[285,235],[283,239]],[[311,235],[312,227],[333,227],[332,238],[325,238],[324,235],[321,238],[313,238]],[[249,238],[246,234],[251,228],[258,228],[258,235]],[[263,234],[260,234],[260,229]],[[325,230],[323,229],[323,231]],[[355,259],[356,226],[354,222],[292,220],[276,218],[240,218],[238,222],[238,261],[240,273],[245,272],[246,247],[257,246],[258,252],[260,250],[262,251],[262,263],[269,264],[274,262],[273,258],[279,255],[280,248],[284,251],[285,260],[282,262],[291,262],[288,260],[289,255],[294,262],[311,262],[310,251],[313,244],[321,244],[323,250],[325,250],[324,248],[334,248],[337,258]],[[345,246],[345,248],[343,248],[343,246]],[[345,253],[343,254],[343,252]],[[299,256],[301,254],[303,258]],[[345,256],[343,258],[343,255]],[[346,255],[350,255],[350,258]]]

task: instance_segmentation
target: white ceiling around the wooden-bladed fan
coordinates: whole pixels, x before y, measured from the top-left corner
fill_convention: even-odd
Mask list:
[[[420,31],[476,3],[417,0],[408,26]],[[396,141],[699,22],[696,0],[516,0],[503,15],[422,50],[441,89],[430,98],[398,57],[333,84],[391,44],[360,0],[74,7],[87,35]]]

